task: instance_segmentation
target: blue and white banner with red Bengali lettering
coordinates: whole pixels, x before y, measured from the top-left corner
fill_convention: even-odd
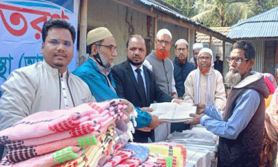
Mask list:
[[[77,32],[79,2],[80,0],[0,0],[0,85],[13,70],[43,61],[40,54],[42,25],[48,19],[67,19]],[[76,66],[77,56],[74,56],[68,67],[72,71]]]

